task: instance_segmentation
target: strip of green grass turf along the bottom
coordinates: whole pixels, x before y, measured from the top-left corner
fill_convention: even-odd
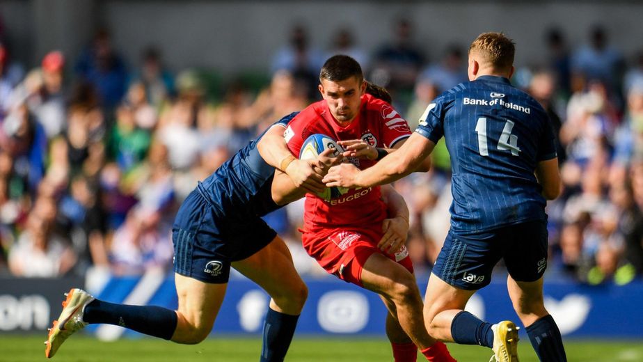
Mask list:
[[[46,361],[44,335],[0,335],[1,362]],[[122,339],[105,343],[88,336],[73,336],[58,350],[54,362],[246,362],[258,361],[260,337],[209,338],[199,345],[177,345],[152,338]],[[566,340],[569,361],[643,361],[643,341],[593,341]],[[452,355],[458,361],[489,361],[491,349],[477,346],[449,344]],[[538,361],[528,340],[521,341],[518,354],[522,362]],[[423,361],[422,356],[418,361]],[[347,336],[296,337],[287,362],[390,362],[392,356],[388,341],[382,338],[358,338]]]

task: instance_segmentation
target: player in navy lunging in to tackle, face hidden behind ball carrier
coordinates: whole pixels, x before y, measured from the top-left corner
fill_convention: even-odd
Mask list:
[[[369,91],[378,95],[381,90]],[[285,116],[269,130],[283,134],[296,114]],[[72,333],[93,323],[124,326],[176,343],[200,343],[212,330],[230,267],[234,267],[271,296],[260,361],[283,361],[308,290],[287,246],[260,217],[301,198],[306,191],[323,191],[322,175],[340,159],[327,150],[317,160],[282,164],[283,170],[296,175],[297,187],[289,175],[264,162],[257,150],[262,136],[200,182],[177,213],[172,239],[178,309],[112,304],[74,288],[66,293],[63,311],[49,330],[48,358]],[[408,213],[402,196],[392,188],[386,191],[391,217]],[[387,230],[386,237],[406,237],[407,230]]]

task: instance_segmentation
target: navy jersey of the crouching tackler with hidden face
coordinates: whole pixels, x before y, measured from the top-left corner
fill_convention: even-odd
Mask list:
[[[273,125],[285,127],[297,113],[290,113]],[[200,194],[221,216],[262,217],[280,207],[273,201],[271,192],[275,168],[267,164],[257,150],[257,142],[266,132],[198,184]]]

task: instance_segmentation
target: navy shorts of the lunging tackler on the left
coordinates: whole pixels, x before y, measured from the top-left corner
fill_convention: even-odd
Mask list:
[[[174,220],[174,271],[205,283],[228,283],[232,262],[257,253],[276,236],[260,217],[218,214],[195,189]]]

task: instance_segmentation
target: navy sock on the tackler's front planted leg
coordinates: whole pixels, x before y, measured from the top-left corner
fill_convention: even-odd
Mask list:
[[[261,362],[283,361],[290,347],[299,315],[279,313],[268,308],[264,322]]]

